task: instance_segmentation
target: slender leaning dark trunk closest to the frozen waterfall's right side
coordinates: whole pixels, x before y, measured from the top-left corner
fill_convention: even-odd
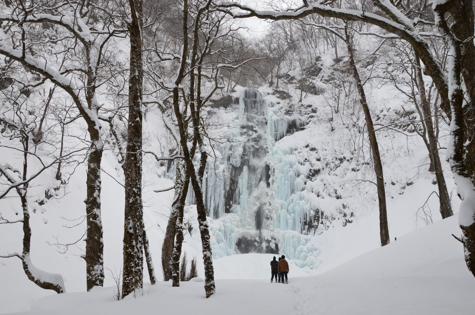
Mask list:
[[[350,56],[350,65],[352,67],[353,76],[355,78],[356,85],[358,87],[358,93],[360,94],[360,102],[361,102],[361,107],[363,108],[364,118],[366,120],[366,126],[368,127],[368,135],[370,138],[371,152],[373,155],[374,172],[376,173],[376,184],[378,187],[378,201],[379,201],[379,206],[380,206],[381,246],[384,246],[390,243],[390,238],[389,238],[389,228],[388,228],[388,216],[386,213],[386,192],[384,189],[383,167],[381,164],[380,150],[378,147],[378,141],[376,139],[376,133],[374,132],[373,121],[371,120],[370,109],[368,108],[368,103],[366,102],[366,95],[363,90],[363,85],[361,84],[358,68],[356,68],[351,39],[348,36],[348,31],[347,31],[346,26],[345,26],[345,42],[348,48],[348,54]]]

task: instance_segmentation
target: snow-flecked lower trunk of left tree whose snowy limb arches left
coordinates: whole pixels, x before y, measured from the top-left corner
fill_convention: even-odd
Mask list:
[[[90,128],[93,129],[93,128]],[[93,146],[98,133],[92,130]],[[101,160],[102,149],[92,147],[87,158],[87,198],[86,204],[86,286],[90,291],[94,286],[104,285],[104,242],[101,220]]]

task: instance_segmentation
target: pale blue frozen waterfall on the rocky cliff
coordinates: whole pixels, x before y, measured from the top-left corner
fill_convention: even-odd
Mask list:
[[[229,127],[219,158],[207,163],[203,180],[214,258],[267,252],[284,254],[302,268],[320,264],[318,247],[305,235],[315,216],[303,191],[308,170],[295,155],[274,149],[290,124],[304,125],[279,115],[257,90],[241,92],[237,123]]]

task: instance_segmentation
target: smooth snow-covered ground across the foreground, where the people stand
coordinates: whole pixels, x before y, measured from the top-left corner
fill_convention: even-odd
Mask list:
[[[473,314],[475,279],[462,245],[450,235],[460,234],[457,219],[420,228],[316,276],[295,277],[300,274],[291,265],[288,285],[256,279],[269,275],[271,255],[234,255],[215,260],[217,278],[251,279],[218,279],[209,299],[202,282],[182,282],[180,288],[158,282],[122,301],[114,301],[113,287],[55,294],[21,314]]]

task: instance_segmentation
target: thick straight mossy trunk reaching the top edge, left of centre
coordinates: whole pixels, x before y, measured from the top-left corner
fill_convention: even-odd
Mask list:
[[[142,0],[129,0],[130,77],[127,153],[123,163],[125,207],[122,298],[143,286],[142,208]]]

